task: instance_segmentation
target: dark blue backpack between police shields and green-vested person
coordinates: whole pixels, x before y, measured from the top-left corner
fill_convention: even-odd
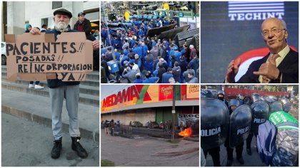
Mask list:
[[[257,149],[261,161],[270,165],[276,152],[277,130],[269,120],[259,125],[259,134],[257,135]]]

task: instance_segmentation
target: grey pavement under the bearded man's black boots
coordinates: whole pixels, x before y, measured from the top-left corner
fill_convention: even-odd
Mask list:
[[[64,132],[59,159],[51,158],[51,127],[8,115],[2,117],[2,167],[99,167],[99,143],[81,138],[89,157],[81,159],[71,149],[71,137]]]

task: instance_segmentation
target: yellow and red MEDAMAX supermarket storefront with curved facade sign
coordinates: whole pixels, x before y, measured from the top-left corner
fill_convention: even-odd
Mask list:
[[[175,123],[179,117],[199,118],[199,85],[128,85],[101,100],[101,120],[119,120],[124,125],[171,120],[174,94]]]

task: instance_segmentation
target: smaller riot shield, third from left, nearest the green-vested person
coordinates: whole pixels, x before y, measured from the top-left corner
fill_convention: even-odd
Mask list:
[[[259,125],[266,122],[269,117],[270,107],[265,101],[259,100],[251,105],[252,122],[251,132],[257,134],[259,131]]]

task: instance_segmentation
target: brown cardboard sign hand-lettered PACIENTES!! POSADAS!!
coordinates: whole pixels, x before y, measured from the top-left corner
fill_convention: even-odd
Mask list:
[[[85,80],[93,71],[93,46],[83,32],[5,35],[7,80]]]

